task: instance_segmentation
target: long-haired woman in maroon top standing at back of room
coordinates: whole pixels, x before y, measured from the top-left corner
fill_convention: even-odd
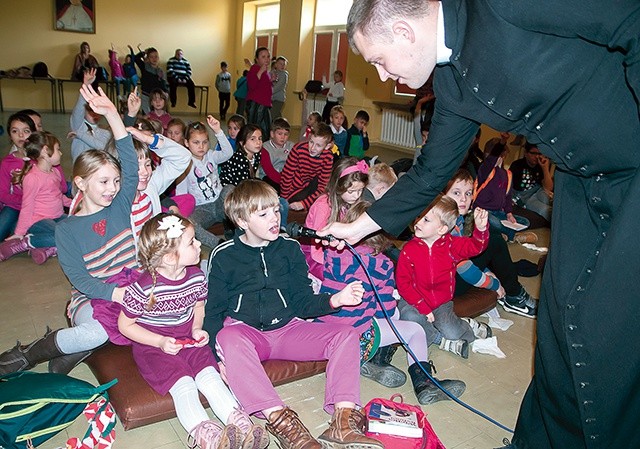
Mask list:
[[[258,125],[262,135],[271,130],[271,96],[273,88],[269,76],[271,55],[267,47],[256,49],[253,65],[247,74],[247,122]],[[265,137],[266,138],[266,137]]]

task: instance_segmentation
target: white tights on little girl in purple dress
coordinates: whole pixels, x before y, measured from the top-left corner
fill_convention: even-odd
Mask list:
[[[215,368],[208,366],[196,374],[195,379],[189,376],[181,377],[169,389],[182,427],[191,432],[198,424],[209,419],[200,403],[198,390],[209,401],[213,413],[226,424],[233,409],[238,407],[238,402],[220,378],[220,374]]]

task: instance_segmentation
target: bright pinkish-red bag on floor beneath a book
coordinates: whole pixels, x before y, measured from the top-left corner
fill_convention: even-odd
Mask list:
[[[400,399],[399,402],[395,399]],[[365,416],[369,416],[369,410],[374,403],[382,404],[389,408],[395,408],[400,410],[406,410],[408,412],[415,412],[418,417],[418,424],[422,428],[421,438],[409,438],[396,435],[389,435],[385,433],[369,432],[365,434],[368,437],[379,440],[386,448],[390,449],[446,449],[442,441],[438,438],[438,435],[433,431],[431,424],[427,420],[427,415],[417,405],[411,405],[404,403],[401,394],[394,394],[389,399],[373,398],[364,407]],[[368,428],[368,427],[367,427]]]

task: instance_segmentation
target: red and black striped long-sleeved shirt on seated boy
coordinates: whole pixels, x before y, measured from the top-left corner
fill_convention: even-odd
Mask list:
[[[282,169],[280,178],[280,196],[290,200],[293,196],[309,187],[316,179],[317,188],[309,192],[308,196],[300,201],[305,209],[309,209],[313,202],[324,193],[331,168],[333,167],[333,154],[331,150],[324,150],[320,156],[313,157],[309,154],[309,143],[300,142],[293,147]]]

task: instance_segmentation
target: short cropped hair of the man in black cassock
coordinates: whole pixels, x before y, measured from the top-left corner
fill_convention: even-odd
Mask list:
[[[424,17],[429,12],[427,3],[425,0],[354,1],[347,18],[349,46],[358,53],[354,42],[354,36],[358,32],[367,39],[375,36],[378,42],[391,42],[393,34],[389,24],[398,19]]]

